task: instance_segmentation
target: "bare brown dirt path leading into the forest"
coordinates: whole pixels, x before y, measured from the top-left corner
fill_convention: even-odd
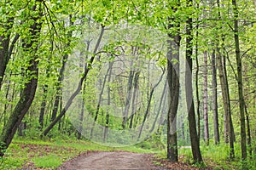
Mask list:
[[[152,154],[138,154],[123,151],[90,152],[65,162],[59,170],[165,169],[164,167],[155,166],[150,161],[152,157]]]

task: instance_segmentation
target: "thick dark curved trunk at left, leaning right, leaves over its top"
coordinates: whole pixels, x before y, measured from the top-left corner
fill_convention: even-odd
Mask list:
[[[0,136],[0,156],[4,155],[4,150],[9,147],[20,122],[32,105],[38,85],[38,37],[42,27],[42,22],[40,20],[43,15],[41,3],[34,5],[32,11],[38,11],[38,16],[31,16],[31,19],[33,20],[33,24],[30,26],[32,39],[24,39],[22,45],[26,54],[32,56],[29,61],[29,66],[26,69],[26,79],[28,82],[26,82],[25,88],[22,89],[20,100],[15,106],[15,110],[10,114],[6,126],[3,127]]]

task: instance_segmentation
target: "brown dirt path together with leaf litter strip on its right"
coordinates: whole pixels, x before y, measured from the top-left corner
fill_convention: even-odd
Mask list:
[[[159,166],[157,166],[159,165]],[[58,170],[164,170],[199,169],[185,163],[171,163],[157,160],[154,154],[125,151],[92,151],[64,162]],[[212,168],[204,168],[212,169]]]

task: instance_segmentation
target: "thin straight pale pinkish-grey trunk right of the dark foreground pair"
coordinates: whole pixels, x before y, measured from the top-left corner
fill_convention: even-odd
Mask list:
[[[209,122],[208,122],[208,77],[207,51],[204,51],[204,121],[205,121],[205,142],[209,145]]]

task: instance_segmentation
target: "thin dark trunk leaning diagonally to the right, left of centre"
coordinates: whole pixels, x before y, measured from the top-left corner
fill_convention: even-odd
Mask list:
[[[93,55],[90,57],[90,61],[88,62],[87,66],[85,66],[84,68],[84,75],[83,77],[80,78],[79,80],[79,85],[78,85],[78,88],[75,90],[75,92],[71,95],[71,97],[67,100],[67,104],[65,105],[65,107],[61,110],[61,113],[56,116],[55,120],[53,120],[48,127],[46,127],[44,129],[44,132],[42,133],[42,135],[46,136],[49,131],[55,126],[55,124],[61,120],[61,117],[64,116],[66,114],[66,111],[68,110],[68,108],[70,107],[70,105],[72,104],[73,102],[73,99],[79,94],[79,92],[81,91],[82,89],[82,85],[83,85],[83,82],[84,80],[86,80],[85,78],[87,77],[88,75],[88,72],[90,71],[91,69],[91,65],[96,57],[96,52],[99,48],[99,45],[100,45],[100,42],[102,41],[102,37],[103,37],[103,33],[104,33],[104,27],[105,26],[102,26],[102,31],[100,33],[100,36],[96,42],[96,48],[94,49],[93,51]]]

